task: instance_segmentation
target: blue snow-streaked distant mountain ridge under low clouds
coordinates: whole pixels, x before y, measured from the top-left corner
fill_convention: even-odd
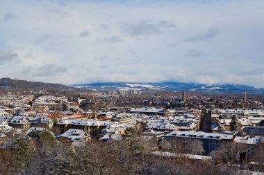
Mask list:
[[[195,91],[202,93],[249,93],[264,94],[264,89],[240,84],[197,84],[185,82],[157,82],[157,83],[131,83],[131,82],[101,82],[92,84],[74,84],[73,87],[86,87],[97,90],[140,89],[142,91]]]

